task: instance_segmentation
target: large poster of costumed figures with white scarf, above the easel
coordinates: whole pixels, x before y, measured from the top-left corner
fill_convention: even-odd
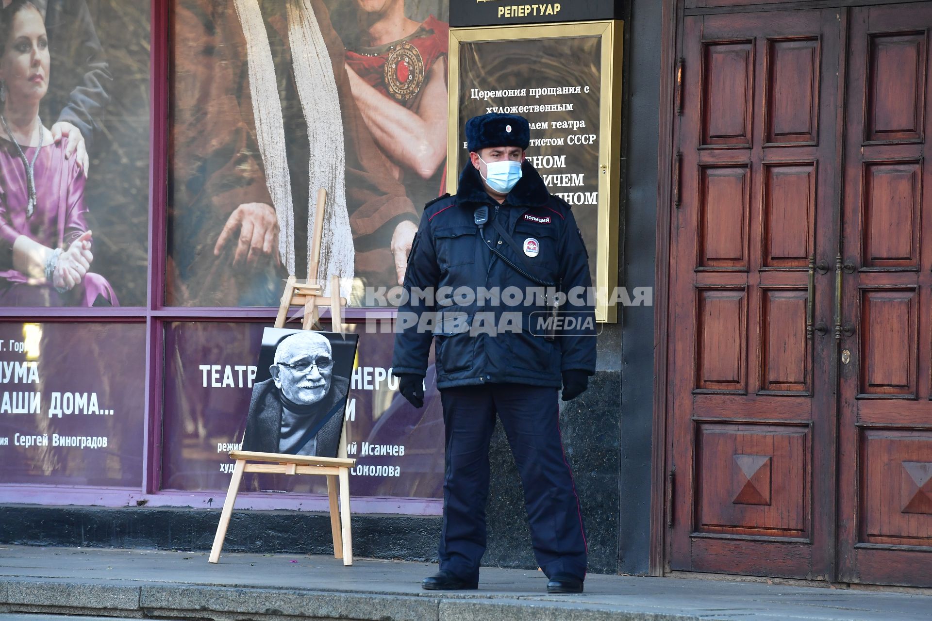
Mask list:
[[[166,302],[276,305],[308,277],[350,305],[404,277],[445,193],[448,2],[175,0]],[[329,289],[329,284],[327,285]]]

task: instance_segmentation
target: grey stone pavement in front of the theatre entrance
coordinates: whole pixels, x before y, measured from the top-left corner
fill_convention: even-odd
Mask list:
[[[429,563],[201,552],[0,547],[0,621],[928,621],[932,594],[591,574],[548,596],[539,572],[483,570],[480,590],[423,591]],[[57,616],[58,614],[84,615]],[[114,619],[114,621],[116,621]]]

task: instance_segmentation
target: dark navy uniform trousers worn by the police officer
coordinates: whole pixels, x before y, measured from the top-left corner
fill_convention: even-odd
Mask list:
[[[534,556],[544,574],[583,579],[583,514],[560,439],[557,389],[522,384],[445,388],[440,569],[474,581],[486,551],[488,445],[498,412],[521,474]]]

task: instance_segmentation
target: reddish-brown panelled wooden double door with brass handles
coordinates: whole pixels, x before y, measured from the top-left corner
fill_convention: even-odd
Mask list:
[[[667,567],[932,586],[932,3],[697,12]]]

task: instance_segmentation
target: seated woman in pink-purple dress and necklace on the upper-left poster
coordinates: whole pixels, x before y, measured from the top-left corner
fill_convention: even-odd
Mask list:
[[[118,305],[90,272],[85,177],[42,126],[48,37],[28,0],[0,11],[0,306]]]

